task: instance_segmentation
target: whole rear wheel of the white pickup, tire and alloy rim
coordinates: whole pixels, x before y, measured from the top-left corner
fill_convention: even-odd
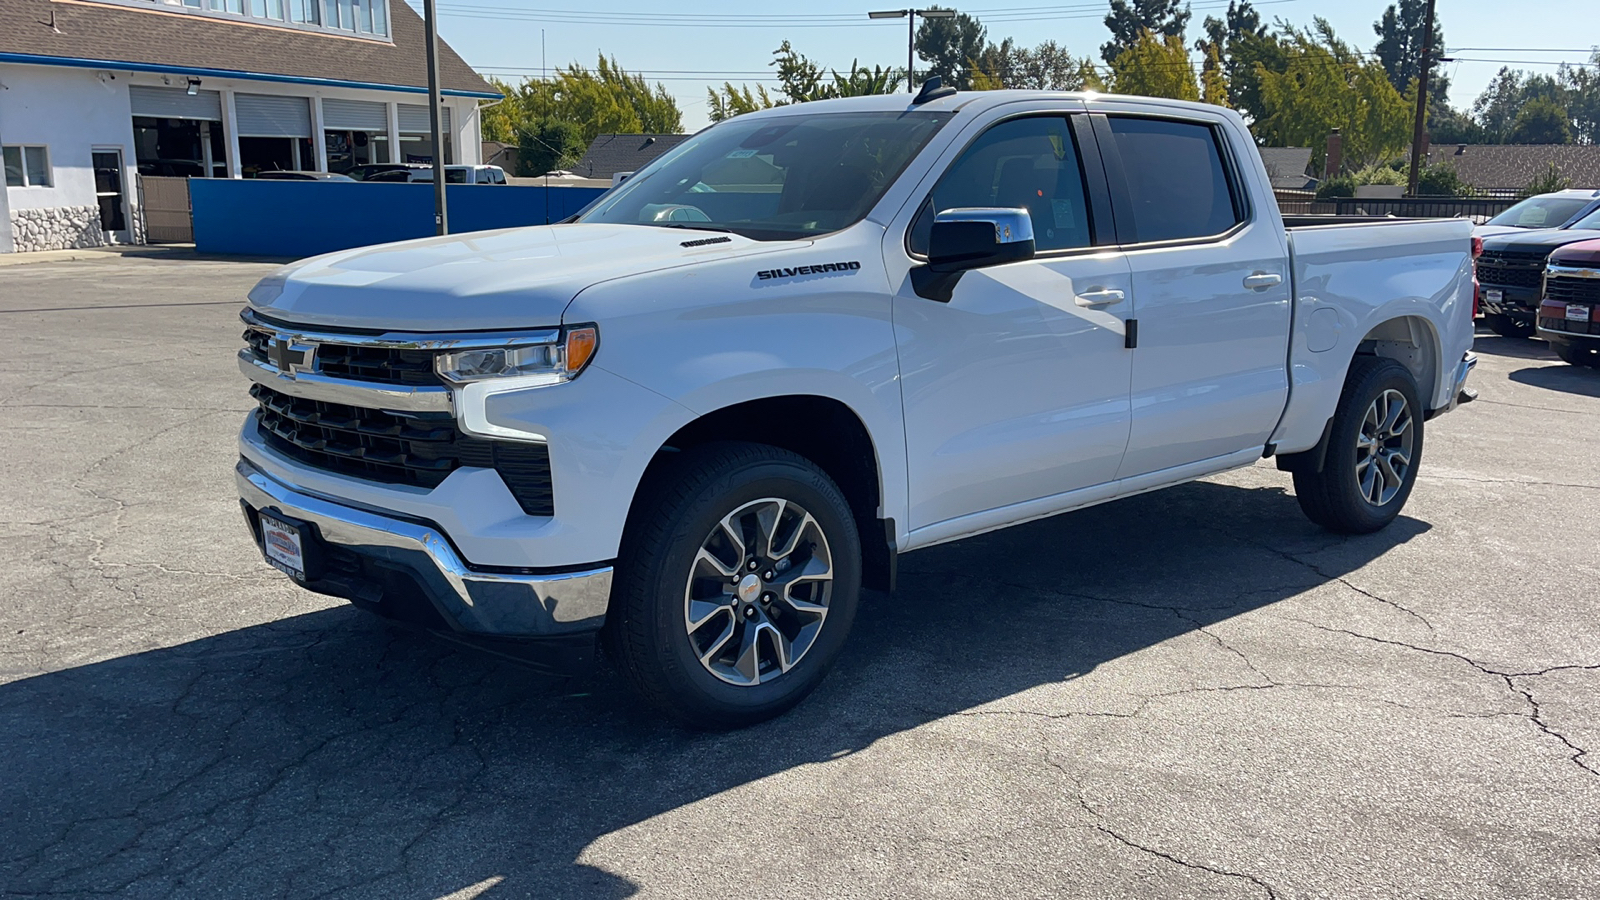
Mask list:
[[[1366,535],[1394,522],[1422,461],[1422,402],[1411,372],[1358,356],[1344,380],[1320,472],[1296,471],[1294,496],[1331,532]]]

